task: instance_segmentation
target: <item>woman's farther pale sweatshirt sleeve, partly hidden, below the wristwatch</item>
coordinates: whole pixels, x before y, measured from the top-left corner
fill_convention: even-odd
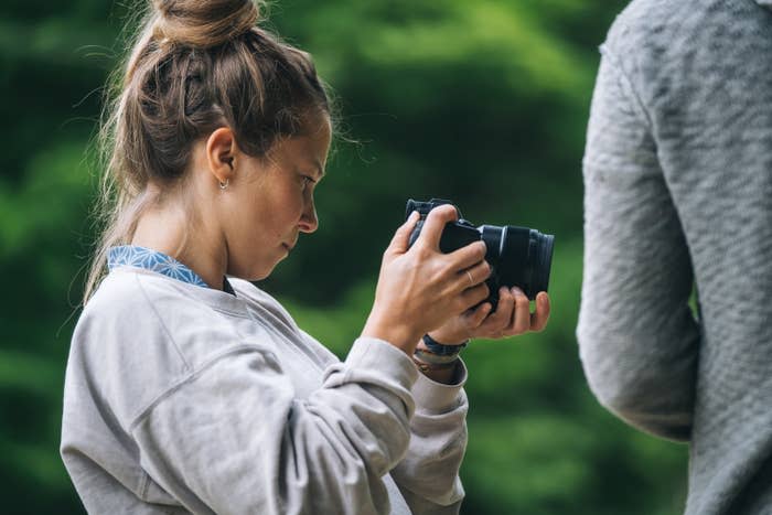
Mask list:
[[[410,420],[410,446],[392,478],[416,514],[459,513],[464,497],[459,478],[469,410],[463,361],[459,361],[458,377],[455,384],[443,385],[419,374],[412,386],[416,412]]]

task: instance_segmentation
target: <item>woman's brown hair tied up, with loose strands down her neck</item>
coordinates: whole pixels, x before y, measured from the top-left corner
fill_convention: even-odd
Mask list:
[[[130,243],[143,210],[184,179],[193,143],[229,127],[262,158],[331,116],[309,54],[258,26],[259,0],[152,0],[114,72],[98,135],[99,238],[83,297],[106,275],[108,249]],[[127,25],[128,26],[128,25]],[[332,120],[331,120],[332,121]]]

